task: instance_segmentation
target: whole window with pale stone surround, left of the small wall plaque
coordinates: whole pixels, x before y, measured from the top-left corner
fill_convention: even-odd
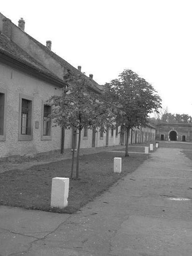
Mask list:
[[[31,140],[33,98],[20,94],[19,140]]]

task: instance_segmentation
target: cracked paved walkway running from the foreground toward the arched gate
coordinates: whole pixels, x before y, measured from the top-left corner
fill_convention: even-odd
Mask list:
[[[76,214],[1,206],[0,255],[191,256],[192,161],[159,148]]]

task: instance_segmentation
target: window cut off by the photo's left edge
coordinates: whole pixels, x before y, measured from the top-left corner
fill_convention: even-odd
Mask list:
[[[0,141],[5,141],[6,135],[6,96],[6,90],[0,89]]]

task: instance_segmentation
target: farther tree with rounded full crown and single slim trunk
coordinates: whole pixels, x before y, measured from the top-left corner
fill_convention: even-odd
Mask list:
[[[145,79],[131,70],[124,70],[118,79],[106,85],[105,101],[115,102],[115,122],[127,131],[125,156],[128,156],[129,130],[145,125],[149,113],[158,112],[161,98]]]

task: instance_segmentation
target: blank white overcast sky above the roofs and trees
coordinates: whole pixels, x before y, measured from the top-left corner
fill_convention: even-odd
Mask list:
[[[99,84],[124,69],[192,115],[192,0],[9,0],[0,12]]]

